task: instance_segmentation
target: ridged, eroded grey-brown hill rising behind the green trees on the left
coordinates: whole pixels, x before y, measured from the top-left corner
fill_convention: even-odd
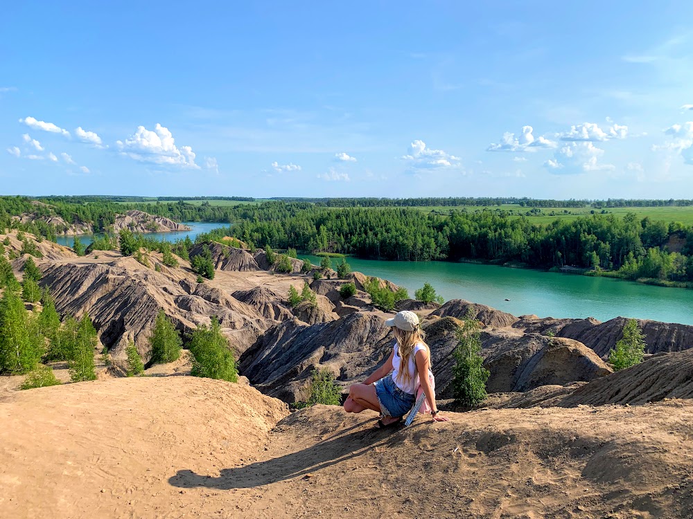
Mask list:
[[[109,264],[46,262],[39,266],[44,271],[40,284],[49,286],[58,311],[77,318],[88,312],[114,358],[124,356],[130,340],[147,358],[147,339],[159,309],[182,332],[218,316],[231,347],[239,353],[272,324],[247,304],[195,283],[194,276],[180,268],[166,272],[162,268],[159,273],[131,257]]]

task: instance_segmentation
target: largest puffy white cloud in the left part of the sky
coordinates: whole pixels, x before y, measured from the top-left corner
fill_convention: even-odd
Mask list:
[[[195,164],[195,153],[190,146],[177,147],[173,135],[168,128],[158,122],[154,131],[138,126],[137,131],[125,142],[116,142],[123,155],[135,161],[159,165],[173,165],[199,170]]]

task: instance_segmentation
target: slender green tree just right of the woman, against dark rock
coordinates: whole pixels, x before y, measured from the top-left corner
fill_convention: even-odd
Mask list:
[[[484,367],[479,322],[467,316],[457,329],[453,352],[453,395],[463,406],[476,406],[486,398],[486,381],[491,373]]]

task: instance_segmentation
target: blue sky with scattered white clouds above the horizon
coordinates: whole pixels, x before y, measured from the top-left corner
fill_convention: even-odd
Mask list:
[[[0,192],[693,198],[692,2],[476,4],[12,2]]]

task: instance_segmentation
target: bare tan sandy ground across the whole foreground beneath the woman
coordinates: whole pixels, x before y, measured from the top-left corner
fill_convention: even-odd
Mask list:
[[[0,401],[1,515],[693,516],[692,401],[448,416],[376,430],[374,413],[289,414],[188,376],[13,392]]]

